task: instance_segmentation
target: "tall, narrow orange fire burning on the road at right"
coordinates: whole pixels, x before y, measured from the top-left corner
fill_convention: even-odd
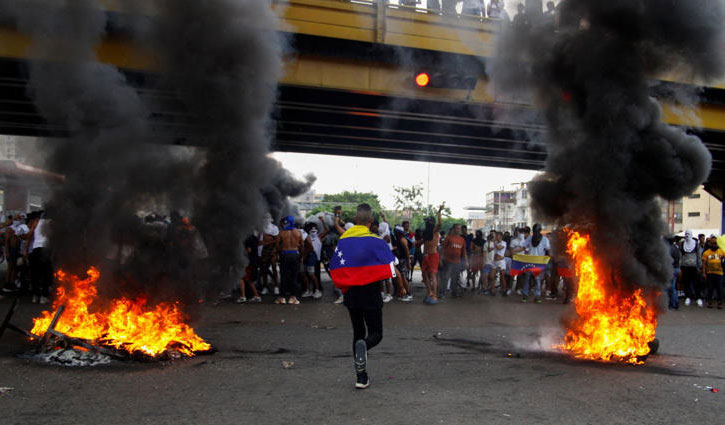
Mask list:
[[[570,232],[567,251],[579,288],[574,301],[577,317],[568,323],[562,348],[583,359],[643,363],[640,356],[650,352],[657,315],[642,289],[617,290],[609,270],[592,254],[588,236]]]

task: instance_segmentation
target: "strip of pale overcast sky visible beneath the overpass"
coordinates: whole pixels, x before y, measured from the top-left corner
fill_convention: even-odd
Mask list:
[[[373,192],[385,208],[392,209],[393,186],[422,183],[430,188],[431,204],[445,201],[453,215],[461,218],[466,217],[463,207],[483,206],[487,192],[529,181],[535,175],[527,170],[430,163],[428,186],[427,162],[288,152],[272,155],[300,178],[307,173],[317,176],[313,186],[317,193]]]

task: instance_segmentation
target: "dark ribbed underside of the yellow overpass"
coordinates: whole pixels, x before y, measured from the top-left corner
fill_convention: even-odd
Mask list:
[[[41,117],[27,85],[27,63],[0,60],[0,134],[64,137]],[[126,73],[152,105],[157,142],[194,144],[193,118],[151,74]],[[522,122],[522,117],[527,117]],[[445,102],[375,93],[280,86],[273,149],[540,170],[544,127],[526,106]],[[723,197],[725,134],[693,131],[713,155],[707,188]]]

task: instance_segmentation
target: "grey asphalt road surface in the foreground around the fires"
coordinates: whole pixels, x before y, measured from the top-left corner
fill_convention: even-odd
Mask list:
[[[0,340],[0,423],[10,424],[721,424],[725,310],[662,316],[645,366],[570,359],[550,349],[568,307],[467,294],[384,309],[371,387],[354,389],[344,307],[207,304],[194,324],[218,349],[172,363],[42,365]],[[9,307],[0,301],[0,314]],[[29,327],[40,311],[23,304]],[[294,362],[289,369],[282,362]],[[707,386],[722,389],[713,393]]]

